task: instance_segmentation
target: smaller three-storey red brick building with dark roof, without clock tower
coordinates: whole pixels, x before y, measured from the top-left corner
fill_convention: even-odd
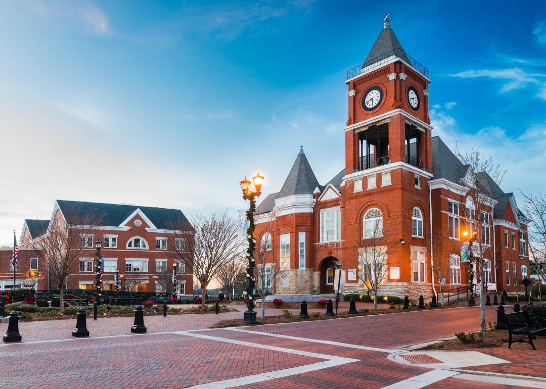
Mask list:
[[[93,242],[97,240],[103,242],[100,253],[104,257],[102,280],[105,290],[115,290],[116,270],[123,279],[123,290],[164,292],[169,283],[172,285],[176,257],[173,255],[173,244],[186,247],[188,243],[191,244],[194,232],[180,210],[57,200],[51,219],[25,220],[20,246],[28,246],[29,241],[46,239],[53,223],[70,228],[70,225],[77,223],[75,220],[79,220],[79,216],[89,215],[96,215],[99,223],[90,226],[89,234],[80,238],[85,250],[81,252],[79,271],[68,276],[65,288],[94,287]],[[192,274],[182,261],[176,260],[176,263],[177,292],[179,295],[191,295]],[[44,273],[44,283],[40,283],[40,289],[57,289],[58,285],[54,285],[48,277],[48,269],[40,271]]]

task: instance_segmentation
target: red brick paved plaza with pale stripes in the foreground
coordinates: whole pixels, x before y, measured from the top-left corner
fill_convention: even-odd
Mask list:
[[[495,314],[488,308],[487,320]],[[477,330],[478,308],[209,328],[239,316],[146,316],[145,334],[129,331],[133,318],[101,318],[88,320],[90,338],[83,339],[71,336],[74,320],[22,322],[23,342],[0,345],[9,372],[0,388],[546,387],[544,338],[536,341],[537,351],[519,343],[511,350],[476,350],[500,358],[482,366],[439,365],[436,354],[424,351],[405,361],[436,364],[416,366],[396,357],[411,345]]]

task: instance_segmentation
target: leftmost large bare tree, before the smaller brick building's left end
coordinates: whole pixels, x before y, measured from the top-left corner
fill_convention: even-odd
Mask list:
[[[63,216],[64,220],[52,217],[43,236],[25,242],[39,253],[51,282],[59,288],[61,311],[68,276],[79,273],[80,267],[82,271],[95,271],[93,240],[103,224],[102,216],[82,212],[79,207],[64,209]]]

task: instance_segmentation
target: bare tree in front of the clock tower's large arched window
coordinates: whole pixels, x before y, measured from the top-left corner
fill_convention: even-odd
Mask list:
[[[390,223],[383,223],[382,218],[373,220],[364,227],[364,239],[358,247],[358,278],[373,296],[373,309],[377,309],[379,287],[387,280],[387,264],[394,264],[387,260],[399,244],[395,222],[396,218]]]

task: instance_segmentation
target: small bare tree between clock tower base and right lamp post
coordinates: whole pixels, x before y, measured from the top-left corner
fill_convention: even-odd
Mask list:
[[[454,270],[454,265],[459,265],[460,268],[461,248],[453,240],[450,240],[445,232],[436,230],[433,237],[432,274],[434,274],[438,289],[440,289],[441,303],[443,306],[443,296],[447,286],[450,284],[452,278],[458,278],[459,280],[461,277],[460,270],[459,272]]]

